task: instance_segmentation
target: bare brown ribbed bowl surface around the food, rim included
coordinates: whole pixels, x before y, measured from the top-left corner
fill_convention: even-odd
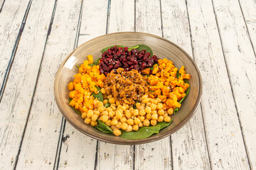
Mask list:
[[[171,60],[178,69],[181,68],[181,66],[184,66],[186,72],[191,74],[191,79],[189,80],[191,91],[186,100],[183,101],[178,113],[172,116],[174,120],[169,127],[161,130],[159,134],[152,135],[143,140],[125,140],[121,137],[115,137],[114,135],[107,135],[90,125],[85,125],[84,120],[80,115],[75,113],[75,111],[68,105],[69,91],[67,85],[70,81],[73,81],[73,76],[78,73],[78,68],[75,66],[77,64],[82,64],[84,60],[87,60],[87,55],[93,55],[95,60],[101,57],[100,50],[104,47],[110,45],[132,47],[138,44],[148,45],[153,50],[154,55],[161,59],[167,58],[168,60]],[[146,33],[112,33],[85,42],[68,55],[60,65],[55,76],[54,93],[61,113],[63,113],[65,119],[76,129],[80,130],[80,132],[105,142],[134,145],[159,140],[167,135],[171,135],[185,125],[192,117],[193,113],[195,113],[200,102],[202,82],[198,68],[191,57],[173,42]]]

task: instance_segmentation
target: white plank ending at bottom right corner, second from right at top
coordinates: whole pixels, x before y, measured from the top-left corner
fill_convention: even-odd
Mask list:
[[[215,7],[220,38],[245,137],[245,145],[247,145],[250,165],[252,169],[256,169],[255,54],[238,1],[215,0],[213,6]],[[253,12],[255,13],[255,11]]]

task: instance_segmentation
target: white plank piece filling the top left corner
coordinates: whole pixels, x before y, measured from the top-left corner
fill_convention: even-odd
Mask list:
[[[6,1],[0,13],[0,87],[11,59],[29,0]],[[1,8],[1,7],[0,7]]]

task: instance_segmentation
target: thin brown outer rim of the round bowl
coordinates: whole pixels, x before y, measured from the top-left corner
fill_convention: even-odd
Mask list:
[[[126,34],[126,33],[132,33],[132,34],[139,34],[139,35],[146,35],[146,36],[151,36],[153,38],[158,38],[158,39],[161,39],[161,40],[164,40],[166,42],[169,42],[171,43],[172,45],[176,46],[179,50],[181,50],[182,52],[184,52],[187,56],[188,56],[188,59],[191,60],[191,62],[193,63],[194,67],[196,68],[196,71],[198,73],[198,77],[199,77],[199,93],[198,93],[198,98],[196,99],[196,103],[195,105],[193,106],[192,110],[190,113],[188,113],[188,116],[186,116],[186,118],[178,125],[176,125],[172,130],[166,132],[165,134],[161,134],[159,132],[159,135],[156,135],[156,136],[152,136],[152,137],[148,137],[148,138],[145,138],[145,139],[142,139],[142,140],[129,140],[129,141],[119,141],[119,140],[105,140],[105,138],[103,137],[99,137],[97,136],[97,134],[93,134],[93,133],[89,133],[89,132],[86,132],[86,131],[83,131],[80,129],[80,127],[78,125],[76,125],[75,123],[73,123],[66,115],[65,111],[63,111],[63,108],[61,107],[60,105],[60,102],[58,101],[58,94],[57,94],[57,91],[58,91],[58,87],[57,87],[57,80],[59,79],[59,77],[61,76],[60,75],[60,70],[61,68],[63,68],[65,62],[70,58],[70,56],[73,55],[73,53],[78,49],[80,48],[82,45],[84,45],[85,43],[87,42],[90,42],[90,41],[93,41],[93,40],[97,40],[97,39],[100,39],[102,37],[105,37],[105,36],[108,36],[108,35],[115,35],[115,34]],[[177,132],[179,129],[181,129],[184,125],[186,125],[186,123],[188,123],[188,121],[193,117],[193,115],[196,113],[197,109],[198,109],[198,106],[201,102],[201,97],[202,97],[202,93],[203,93],[203,82],[202,82],[202,77],[201,77],[201,73],[196,65],[196,62],[194,62],[193,58],[188,55],[188,53],[183,50],[180,46],[176,45],[174,42],[171,42],[170,40],[167,40],[165,38],[162,38],[158,35],[152,35],[152,34],[149,34],[149,33],[142,33],[142,32],[129,32],[129,31],[126,31],[126,32],[117,32],[117,33],[109,33],[109,34],[105,34],[105,35],[100,35],[96,38],[92,38],[91,40],[88,40],[84,43],[82,43],[81,45],[79,45],[78,47],[75,48],[75,50],[73,50],[72,52],[70,52],[70,54],[65,57],[65,60],[63,60],[63,62],[60,64],[60,67],[58,68],[58,72],[56,72],[55,74],[55,80],[54,80],[54,96],[55,96],[55,102],[57,103],[57,106],[60,110],[60,113],[62,113],[62,115],[64,116],[65,120],[68,121],[68,123],[70,123],[75,129],[79,130],[80,132],[82,132],[83,134],[89,136],[89,137],[92,137],[94,138],[95,140],[100,140],[102,142],[108,142],[108,143],[112,143],[112,144],[117,144],[117,145],[140,145],[140,144],[145,144],[145,143],[149,143],[149,142],[154,142],[156,140],[161,140],[163,139],[164,137],[167,137],[171,134],[174,134],[174,132]]]

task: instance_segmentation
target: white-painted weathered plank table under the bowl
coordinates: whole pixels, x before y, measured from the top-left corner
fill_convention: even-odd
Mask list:
[[[171,40],[201,71],[198,111],[163,140],[94,140],[55,103],[68,53],[120,31]],[[0,0],[0,169],[256,169],[255,49],[255,0]]]

